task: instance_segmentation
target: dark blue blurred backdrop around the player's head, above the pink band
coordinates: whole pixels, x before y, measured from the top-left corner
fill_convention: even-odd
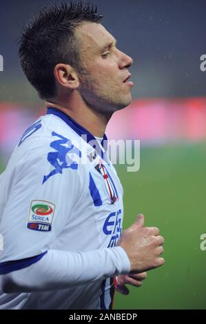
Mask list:
[[[0,100],[7,99],[8,88],[14,94],[10,100],[23,99],[25,94],[19,94],[19,90],[17,93],[18,86],[21,90],[25,86],[31,99],[36,96],[21,71],[17,39],[22,26],[51,2],[0,2],[0,54],[4,58]],[[104,15],[103,25],[118,40],[119,48],[134,59],[131,69],[134,97],[206,94],[206,72],[200,71],[200,55],[206,54],[205,0],[96,0],[94,3]]]

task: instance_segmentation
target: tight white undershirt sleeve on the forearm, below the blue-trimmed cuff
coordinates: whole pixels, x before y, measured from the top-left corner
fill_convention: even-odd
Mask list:
[[[48,250],[38,262],[0,275],[0,288],[6,294],[62,290],[128,272],[130,261],[120,246],[84,252]]]

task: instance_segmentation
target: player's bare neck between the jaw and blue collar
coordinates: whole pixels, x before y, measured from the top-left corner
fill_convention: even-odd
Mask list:
[[[46,101],[46,106],[50,106],[52,108],[56,108],[64,112],[68,117],[71,117],[79,123],[79,125],[83,126],[88,132],[90,132],[93,136],[103,137],[105,134],[105,128],[107,126],[108,121],[112,117],[112,114],[101,114],[100,112],[96,112],[96,110],[92,110],[85,103],[79,102],[79,105],[72,102],[61,102],[58,99],[52,101]]]

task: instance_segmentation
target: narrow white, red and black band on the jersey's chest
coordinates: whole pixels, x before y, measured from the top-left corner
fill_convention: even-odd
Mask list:
[[[112,178],[111,178],[109,172],[107,171],[105,165],[103,165],[103,163],[101,163],[101,161],[100,161],[99,164],[96,165],[95,169],[97,171],[99,171],[101,173],[101,175],[103,176],[107,194],[110,197],[111,203],[116,203],[116,201],[118,199],[116,188],[115,188],[114,182],[112,181]]]

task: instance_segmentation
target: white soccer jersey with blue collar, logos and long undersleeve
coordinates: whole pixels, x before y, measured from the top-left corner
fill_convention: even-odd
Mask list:
[[[23,134],[0,177],[0,309],[112,308],[130,261],[115,247],[123,188],[101,144],[54,108]]]

